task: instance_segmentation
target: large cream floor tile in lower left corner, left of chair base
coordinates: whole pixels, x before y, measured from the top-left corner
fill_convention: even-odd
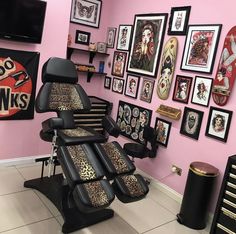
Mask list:
[[[52,217],[32,191],[0,196],[0,232]]]

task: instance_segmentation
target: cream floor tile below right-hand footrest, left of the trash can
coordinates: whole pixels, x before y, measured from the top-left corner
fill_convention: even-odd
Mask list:
[[[148,197],[137,202],[126,204],[116,199],[111,204],[111,207],[139,233],[143,233],[176,219],[175,215]]]

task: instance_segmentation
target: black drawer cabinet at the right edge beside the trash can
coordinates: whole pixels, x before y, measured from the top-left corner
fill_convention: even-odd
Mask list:
[[[236,233],[236,155],[228,158],[210,234]]]

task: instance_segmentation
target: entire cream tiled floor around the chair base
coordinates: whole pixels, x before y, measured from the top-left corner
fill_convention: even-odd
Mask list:
[[[23,186],[25,180],[38,178],[40,170],[38,164],[0,168],[0,233],[62,233],[63,218],[57,208],[40,192]],[[145,199],[129,204],[116,199],[111,208],[113,218],[74,234],[209,233],[209,227],[197,231],[180,225],[176,221],[180,205],[152,185]]]

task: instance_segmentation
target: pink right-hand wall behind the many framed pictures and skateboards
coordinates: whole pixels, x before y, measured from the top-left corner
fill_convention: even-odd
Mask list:
[[[105,14],[104,17],[109,18],[109,20],[105,22],[105,24],[103,23],[101,24],[100,26],[101,31],[99,32],[96,30],[95,31],[90,30],[90,28],[88,27],[87,28],[83,27],[83,29],[85,29],[85,31],[92,32],[93,41],[95,35],[96,35],[95,41],[99,41],[100,38],[102,38],[101,36],[105,36],[104,34],[106,30],[104,30],[104,28],[111,26],[118,28],[119,24],[133,24],[133,19],[135,14],[170,13],[171,7],[189,6],[189,5],[192,6],[189,24],[223,24],[223,27],[219,41],[219,47],[217,50],[214,70],[213,73],[210,75],[193,73],[193,72],[184,72],[180,70],[185,36],[177,36],[179,42],[179,49],[178,49],[175,75],[180,74],[192,77],[195,77],[196,75],[203,75],[214,78],[216,73],[217,63],[219,61],[219,56],[222,50],[224,37],[229,31],[229,29],[235,25],[235,22],[232,20],[233,19],[232,16],[234,16],[235,14],[234,12],[235,10],[232,7],[234,5],[233,0],[229,0],[227,4],[222,4],[220,1],[214,1],[214,0],[205,1],[204,4],[193,0],[191,1],[179,0],[178,3],[177,1],[174,0],[165,0],[165,1],[148,0],[145,2],[143,0],[130,0],[128,3],[126,0],[120,0],[120,1],[105,0],[103,1],[102,14],[103,16]],[[110,17],[109,16],[107,17],[107,14],[109,14]],[[71,32],[75,28],[82,28],[82,27],[79,25],[76,26],[71,25],[70,28]],[[95,32],[97,33],[95,34]],[[165,33],[164,43],[168,39],[169,36],[167,35],[167,33]],[[111,55],[109,58],[107,58],[106,63],[111,62],[113,58],[112,56],[113,50],[109,49],[108,52]],[[80,58],[76,57],[76,59]],[[108,75],[111,74],[110,68],[107,67],[106,71],[108,72]],[[164,118],[172,122],[168,148],[160,147],[158,150],[158,155],[155,159],[136,160],[135,164],[146,173],[160,180],[161,182],[173,188],[177,192],[183,194],[190,163],[193,161],[208,162],[216,166],[220,170],[220,176],[218,177],[218,188],[217,188],[219,189],[222,176],[225,170],[227,158],[228,156],[236,153],[236,146],[235,146],[236,132],[234,131],[233,128],[233,126],[235,126],[235,121],[236,121],[235,114],[233,115],[232,118],[228,141],[227,143],[222,143],[220,141],[205,136],[205,129],[207,124],[209,108],[202,107],[199,105],[194,105],[191,103],[191,101],[189,101],[188,105],[172,101],[174,82],[172,84],[168,100],[166,101],[160,100],[156,95],[156,87],[155,87],[152,102],[148,104],[146,102],[140,101],[139,98],[134,100],[124,95],[116,94],[111,90],[104,89],[103,88],[104,79],[101,77],[95,77],[91,81],[91,83],[87,83],[83,76],[79,77],[80,77],[80,83],[83,85],[83,87],[85,87],[85,89],[89,94],[96,94],[97,96],[100,96],[104,99],[113,102],[114,108],[112,115],[114,118],[116,118],[117,106],[119,100],[134,103],[139,106],[145,106],[146,108],[153,110],[153,117],[151,121],[152,126],[154,126],[155,124],[156,117],[159,117],[159,114],[155,113],[155,110],[161,103],[176,108],[181,108],[182,110],[184,109],[185,106],[188,106],[203,111],[204,117],[198,141],[185,137],[184,135],[181,135],[179,133],[181,119],[179,121],[175,121],[161,116],[161,118]],[[124,75],[124,79],[126,79],[126,74]],[[191,93],[190,93],[190,98],[191,98]],[[235,102],[236,102],[236,94],[235,91],[233,91],[228,104],[224,108],[234,111]],[[210,100],[209,106],[216,106],[213,100]],[[127,138],[120,136],[118,141],[123,144],[128,140]],[[176,164],[183,169],[181,177],[177,175],[169,175],[172,164]],[[218,193],[216,190],[215,199],[217,196]]]

